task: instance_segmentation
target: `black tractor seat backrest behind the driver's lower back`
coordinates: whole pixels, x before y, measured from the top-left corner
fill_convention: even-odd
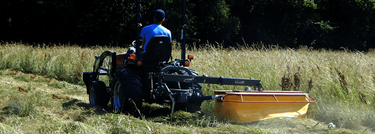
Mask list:
[[[148,41],[143,60],[148,63],[168,62],[171,56],[171,39],[167,35],[155,35]]]

